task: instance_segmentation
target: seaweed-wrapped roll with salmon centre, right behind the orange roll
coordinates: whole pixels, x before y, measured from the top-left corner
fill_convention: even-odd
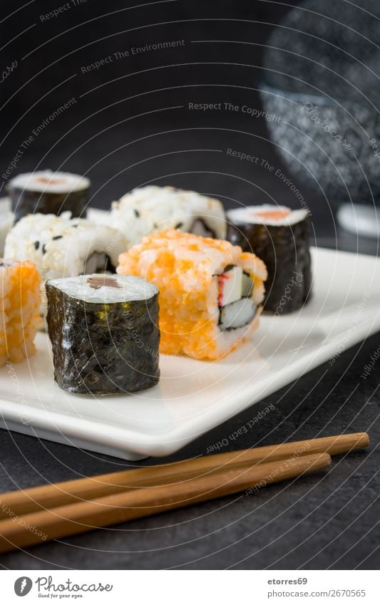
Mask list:
[[[309,212],[262,205],[227,212],[227,239],[255,252],[268,270],[264,311],[290,313],[311,294]]]

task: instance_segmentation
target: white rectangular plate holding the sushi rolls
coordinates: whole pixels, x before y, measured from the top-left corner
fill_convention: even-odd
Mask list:
[[[100,398],[61,391],[51,348],[0,368],[1,426],[125,460],[175,452],[215,425],[380,329],[375,257],[312,249],[304,309],[262,316],[251,340],[217,362],[161,356],[158,386]]]

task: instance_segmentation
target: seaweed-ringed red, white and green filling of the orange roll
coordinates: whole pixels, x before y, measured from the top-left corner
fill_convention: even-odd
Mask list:
[[[242,328],[255,317],[257,305],[252,296],[253,281],[241,267],[228,265],[218,276],[219,327],[221,330]]]

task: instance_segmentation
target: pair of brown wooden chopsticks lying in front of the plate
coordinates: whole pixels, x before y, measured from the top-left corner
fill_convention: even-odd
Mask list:
[[[90,532],[329,467],[366,433],[269,445],[0,494],[0,552]]]

